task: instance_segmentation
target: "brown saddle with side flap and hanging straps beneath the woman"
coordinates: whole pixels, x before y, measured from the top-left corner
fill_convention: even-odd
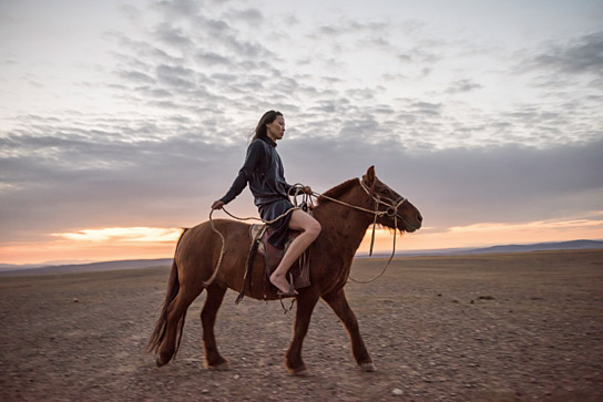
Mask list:
[[[268,225],[252,225],[249,227],[249,239],[252,240],[252,247],[247,256],[247,270],[245,272],[245,284],[243,290],[236,299],[236,303],[243,300],[245,296],[245,289],[251,285],[252,269],[255,255],[264,256],[264,289],[267,286],[273,286],[269,281],[270,275],[275,271],[278,264],[283,259],[283,256],[289,248],[292,241],[299,236],[299,231],[289,230],[287,241],[284,249],[278,249],[270,245],[268,238],[273,234],[273,230]],[[309,248],[304,251],[299,257],[298,264],[294,264],[289,269],[289,274],[293,276],[293,285],[295,289],[303,289],[310,286],[310,251]],[[264,291],[264,298],[266,299],[266,292]]]

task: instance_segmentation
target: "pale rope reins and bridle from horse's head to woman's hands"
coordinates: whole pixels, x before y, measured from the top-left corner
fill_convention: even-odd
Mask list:
[[[370,250],[369,250],[369,256],[372,256],[372,246],[375,244],[375,227],[377,225],[377,218],[378,217],[381,217],[384,215],[387,215],[389,217],[394,217],[394,227],[395,227],[395,233],[394,233],[394,245],[392,245],[392,249],[391,249],[391,255],[389,256],[389,259],[387,260],[384,269],[381,270],[381,272],[379,275],[377,275],[375,278],[370,279],[370,280],[366,280],[366,281],[361,281],[361,280],[356,280],[351,277],[351,275],[349,276],[349,278],[355,281],[356,284],[370,284],[375,280],[377,280],[378,278],[380,278],[387,270],[387,268],[389,267],[389,264],[391,262],[391,260],[394,259],[394,255],[396,254],[396,230],[398,230],[398,208],[400,207],[400,205],[402,205],[407,198],[405,197],[400,197],[398,198],[397,200],[391,200],[389,198],[385,198],[386,200],[381,199],[380,196],[378,195],[375,195],[375,193],[372,193],[364,183],[360,179],[360,186],[362,187],[362,189],[369,195],[369,197],[371,197],[374,200],[375,200],[375,210],[371,210],[371,209],[367,209],[367,208],[364,208],[364,207],[360,207],[360,206],[357,206],[357,205],[352,205],[352,204],[348,204],[346,202],[343,202],[340,199],[337,199],[337,198],[333,198],[333,197],[329,197],[329,196],[326,196],[324,194],[320,194],[320,193],[316,193],[316,192],[313,192],[313,196],[315,197],[323,197],[325,199],[328,199],[328,200],[331,200],[334,203],[338,203],[338,204],[341,204],[344,206],[347,206],[347,207],[350,207],[350,208],[354,208],[354,209],[358,209],[358,210],[361,210],[364,213],[367,213],[367,214],[372,214],[375,215],[375,219],[372,221],[372,235],[371,235],[371,239],[370,239]],[[294,197],[297,197],[297,195],[299,194],[299,188],[298,188],[298,184],[292,186],[292,189],[293,188],[296,188],[295,190],[295,195]],[[290,189],[289,189],[290,192]],[[290,194],[289,194],[290,195]],[[295,198],[297,200],[297,198]],[[385,206],[387,206],[388,208],[386,210],[379,210],[379,204],[384,204]],[[284,216],[287,216],[288,214],[293,213],[294,210],[296,209],[302,209],[300,207],[297,206],[297,202],[295,203],[295,207],[294,208],[290,208],[289,210],[287,210],[286,213],[277,216],[276,218],[272,219],[272,220],[263,220],[260,218],[256,218],[256,217],[246,217],[246,218],[242,218],[242,217],[238,217],[238,216],[235,216],[233,214],[231,214],[229,212],[226,210],[226,208],[222,208],[222,210],[224,210],[224,213],[226,213],[226,215],[228,215],[229,217],[232,217],[233,219],[236,219],[236,220],[259,220],[259,221],[263,221],[264,224],[274,224],[275,221],[277,221],[278,219],[280,219],[282,217]],[[219,235],[219,238],[222,240],[222,249],[219,251],[219,258],[217,260],[217,264],[216,264],[216,268],[214,269],[214,274],[212,275],[212,277],[209,279],[207,279],[205,282],[203,282],[203,285],[205,287],[208,287],[209,285],[212,285],[212,282],[214,281],[214,279],[216,278],[217,276],[217,272],[219,270],[219,267],[222,265],[222,258],[224,257],[224,246],[226,244],[226,240],[224,238],[224,235],[222,235],[222,233],[219,233],[219,230],[217,230],[214,226],[214,220],[212,218],[212,214],[214,213],[215,209],[212,209],[209,212],[209,223],[212,224],[212,230],[214,230],[215,233],[217,233]],[[400,217],[403,219],[403,217]]]

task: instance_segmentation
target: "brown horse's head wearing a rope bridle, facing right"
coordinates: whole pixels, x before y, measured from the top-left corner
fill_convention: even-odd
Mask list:
[[[421,227],[423,220],[419,209],[408,199],[396,193],[375,175],[375,167],[370,166],[362,176],[361,185],[367,194],[378,204],[381,214],[377,223],[392,229],[412,233]],[[397,227],[396,227],[397,226]]]

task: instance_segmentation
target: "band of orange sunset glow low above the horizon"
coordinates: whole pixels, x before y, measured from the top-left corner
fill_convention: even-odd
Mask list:
[[[599,212],[603,216],[603,212]],[[53,234],[44,243],[22,243],[0,248],[0,260],[7,264],[47,261],[103,261],[122,259],[171,258],[181,228],[100,228]],[[358,252],[368,252],[371,228],[367,230]],[[603,239],[603,220],[568,219],[525,224],[474,224],[456,226],[444,231],[423,227],[413,234],[398,235],[397,252],[473,248],[504,244]],[[392,231],[377,228],[374,252],[391,252]]]

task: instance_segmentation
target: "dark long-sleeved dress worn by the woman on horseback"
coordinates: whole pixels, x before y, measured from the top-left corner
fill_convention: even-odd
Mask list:
[[[231,189],[221,200],[224,204],[232,202],[249,183],[254,196],[254,204],[259,210],[263,220],[273,220],[294,208],[287,197],[292,187],[285,181],[283,163],[276,152],[276,143],[269,137],[254,140],[247,148],[245,164],[238,172]],[[287,231],[292,214],[287,214],[274,224],[274,230],[268,241],[276,248],[284,248],[287,241]]]

